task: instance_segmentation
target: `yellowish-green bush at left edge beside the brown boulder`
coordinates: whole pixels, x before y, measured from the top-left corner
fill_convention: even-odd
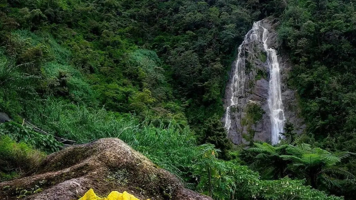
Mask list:
[[[20,175],[36,166],[44,153],[24,142],[16,143],[9,136],[0,137],[0,181]]]

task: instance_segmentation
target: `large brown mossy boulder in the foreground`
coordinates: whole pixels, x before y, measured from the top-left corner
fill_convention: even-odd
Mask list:
[[[128,191],[139,199],[211,200],[183,188],[176,176],[116,138],[104,138],[46,157],[38,169],[0,183],[0,199],[73,200],[90,188],[98,195]]]

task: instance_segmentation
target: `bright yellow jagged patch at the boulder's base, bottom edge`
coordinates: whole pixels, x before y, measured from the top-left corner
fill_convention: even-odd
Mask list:
[[[124,191],[123,193],[119,193],[118,191],[112,191],[108,195],[108,197],[100,198],[99,196],[96,196],[93,189],[90,189],[87,191],[87,193],[84,194],[82,198],[78,200],[140,200],[140,199],[137,199],[135,196],[133,196],[132,194],[126,191]]]

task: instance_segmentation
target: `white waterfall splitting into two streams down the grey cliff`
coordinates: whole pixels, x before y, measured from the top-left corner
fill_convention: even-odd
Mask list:
[[[262,37],[261,37],[262,35]],[[239,46],[237,60],[232,69],[232,78],[229,88],[230,99],[225,111],[225,128],[229,133],[231,128],[231,108],[239,106],[239,98],[244,97],[245,90],[245,46],[251,42],[258,42],[263,44],[263,51],[267,53],[267,64],[269,67],[269,88],[268,88],[268,107],[269,118],[271,120],[271,143],[276,144],[281,137],[284,127],[284,110],[281,96],[281,77],[279,72],[279,63],[277,52],[273,48],[268,48],[268,30],[261,25],[261,21],[254,22],[252,29],[245,35],[244,41]]]

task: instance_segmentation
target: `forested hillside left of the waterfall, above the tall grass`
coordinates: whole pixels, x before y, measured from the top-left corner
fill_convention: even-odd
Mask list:
[[[3,59],[12,68],[20,65],[24,73],[41,75],[32,77],[36,84],[26,84],[36,99],[54,96],[201,125],[223,112],[227,66],[259,14],[247,5],[8,1],[1,16],[1,41],[7,47]],[[32,118],[11,97],[16,94],[2,97],[2,109]]]

